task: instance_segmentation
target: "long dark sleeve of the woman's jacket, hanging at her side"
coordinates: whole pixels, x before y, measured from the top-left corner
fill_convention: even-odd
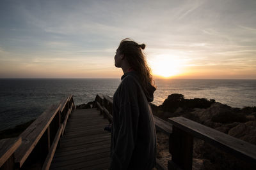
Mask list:
[[[133,78],[127,77],[120,89],[120,130],[111,157],[110,169],[127,169],[131,161],[137,139],[138,119],[138,87]]]

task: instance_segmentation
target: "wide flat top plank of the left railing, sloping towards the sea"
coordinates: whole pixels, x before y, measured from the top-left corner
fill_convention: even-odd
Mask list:
[[[40,115],[36,120],[29,125],[29,127],[20,134],[19,137],[22,138],[22,143],[20,147],[15,152],[15,162],[19,164],[19,167],[24,164],[25,160],[28,158],[29,154],[35,148],[36,144],[46,131],[47,127],[51,123],[52,119],[55,117],[56,113],[60,109],[60,105],[52,105],[48,108],[42,115]]]

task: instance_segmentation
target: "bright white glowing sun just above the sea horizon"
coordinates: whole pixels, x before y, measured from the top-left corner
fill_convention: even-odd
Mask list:
[[[182,73],[183,61],[172,55],[157,55],[150,60],[152,73],[163,78],[179,76]]]

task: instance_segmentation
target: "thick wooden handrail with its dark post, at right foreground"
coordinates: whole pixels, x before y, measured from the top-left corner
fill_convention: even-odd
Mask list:
[[[193,137],[203,139],[216,148],[256,165],[256,146],[188,118],[168,118],[173,125],[171,136],[172,161],[183,169],[192,169]],[[173,164],[173,163],[170,163]]]

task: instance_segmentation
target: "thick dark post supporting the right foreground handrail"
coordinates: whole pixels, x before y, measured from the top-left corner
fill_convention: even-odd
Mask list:
[[[169,152],[172,155],[172,160],[168,162],[168,169],[177,169],[178,166],[184,170],[191,170],[193,136],[173,125],[172,134],[169,139]]]

